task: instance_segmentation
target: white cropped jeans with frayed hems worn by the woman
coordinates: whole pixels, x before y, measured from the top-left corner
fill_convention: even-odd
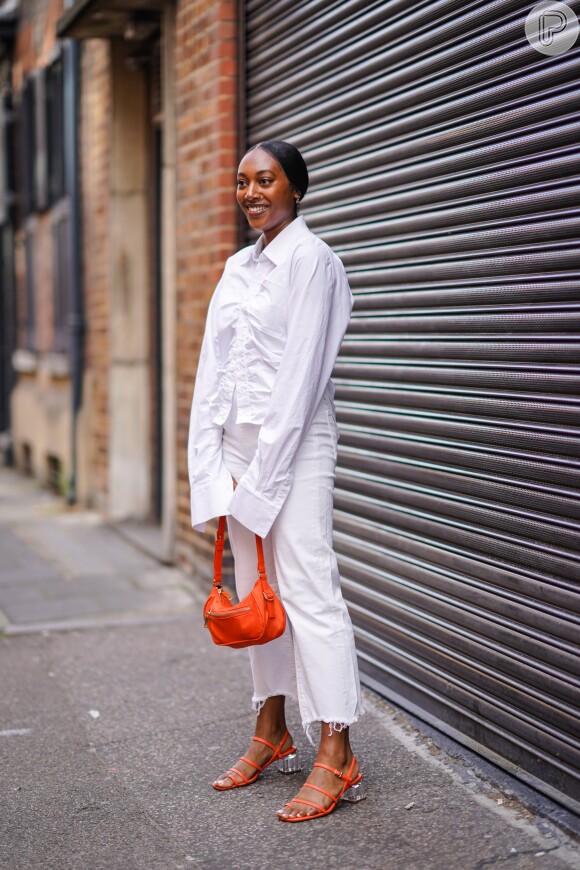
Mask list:
[[[234,395],[224,423],[223,457],[239,480],[254,456],[260,427],[237,424],[235,416]],[[286,631],[248,648],[254,710],[259,712],[273,695],[296,699],[311,742],[314,722],[328,722],[331,730],[340,731],[364,712],[352,624],[332,546],[337,440],[334,409],[323,398],[296,455],[291,490],[264,539],[268,579],[284,604]],[[242,599],[257,577],[255,536],[231,516],[228,534]]]

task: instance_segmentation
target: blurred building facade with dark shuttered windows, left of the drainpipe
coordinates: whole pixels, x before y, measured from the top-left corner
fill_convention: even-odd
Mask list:
[[[74,118],[65,106],[75,52],[56,39],[59,2],[12,8],[3,81],[3,344],[12,368],[9,377],[4,367],[5,435],[20,467],[64,492],[63,456],[75,441],[69,317],[76,162],[70,159]]]

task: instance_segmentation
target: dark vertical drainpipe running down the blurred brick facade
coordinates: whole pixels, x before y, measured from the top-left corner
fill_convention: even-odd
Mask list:
[[[66,189],[70,198],[71,233],[71,299],[69,311],[72,432],[71,473],[67,491],[68,504],[77,501],[78,443],[77,418],[83,393],[83,345],[85,333],[83,305],[83,276],[81,259],[81,192],[79,178],[79,89],[80,44],[69,39],[64,44],[64,117],[65,117],[65,173]]]

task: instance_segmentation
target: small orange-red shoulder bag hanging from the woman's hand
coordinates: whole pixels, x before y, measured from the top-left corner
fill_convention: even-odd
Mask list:
[[[213,589],[203,608],[206,628],[218,646],[239,649],[268,643],[280,637],[286,628],[286,612],[268,583],[262,539],[256,535],[258,579],[249,595],[239,604],[222,589],[222,559],[226,518],[220,517],[215,539]]]

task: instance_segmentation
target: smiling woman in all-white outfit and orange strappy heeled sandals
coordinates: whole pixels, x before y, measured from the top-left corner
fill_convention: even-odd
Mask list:
[[[364,712],[354,637],[332,548],[338,429],[330,375],[352,308],[344,267],[298,216],[308,188],[300,152],[272,140],[242,159],[237,200],[255,245],[227,262],[212,297],[189,434],[191,521],[228,517],[240,599],[256,579],[254,534],[287,628],[250,647],[256,730],[213,783],[249,785],[278,761],[299,770],[285,720],[298,701],[306,734],[321,723],[317,760],[281,821],[328,815],[363,797],[349,726]]]

